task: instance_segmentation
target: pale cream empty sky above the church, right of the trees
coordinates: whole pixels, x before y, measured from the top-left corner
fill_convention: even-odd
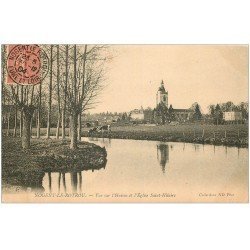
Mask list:
[[[111,45],[106,88],[91,111],[128,112],[156,106],[161,81],[169,105],[189,108],[248,101],[248,46]]]

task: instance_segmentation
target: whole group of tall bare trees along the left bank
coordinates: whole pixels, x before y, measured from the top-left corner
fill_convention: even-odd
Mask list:
[[[7,127],[10,127],[10,110],[14,110],[13,135],[17,136],[19,125],[22,147],[27,149],[34,124],[37,138],[40,138],[42,120],[47,121],[46,137],[50,138],[52,107],[57,107],[56,137],[61,135],[61,139],[65,139],[69,120],[70,148],[77,148],[82,114],[94,107],[104,88],[108,48],[103,45],[42,45],[49,57],[49,72],[40,84],[30,86],[6,83],[7,48],[2,46],[2,107],[5,113],[2,122],[7,119]]]

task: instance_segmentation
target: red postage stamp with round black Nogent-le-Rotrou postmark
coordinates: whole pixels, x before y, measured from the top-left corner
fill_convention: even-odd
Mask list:
[[[39,84],[47,75],[48,70],[48,56],[39,45],[8,45],[8,84]]]

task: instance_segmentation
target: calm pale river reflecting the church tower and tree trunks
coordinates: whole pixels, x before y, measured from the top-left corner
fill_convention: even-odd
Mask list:
[[[248,199],[246,148],[107,138],[83,140],[106,147],[105,168],[46,173],[45,193],[84,193],[99,201],[105,201],[105,197],[106,201],[167,202]]]

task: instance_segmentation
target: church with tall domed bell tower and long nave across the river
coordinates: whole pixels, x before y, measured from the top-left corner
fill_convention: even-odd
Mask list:
[[[168,91],[166,91],[163,80],[156,93],[156,109],[159,105],[166,107],[172,112],[173,120],[179,122],[189,121],[194,113],[192,109],[174,109],[172,105],[168,106]]]

